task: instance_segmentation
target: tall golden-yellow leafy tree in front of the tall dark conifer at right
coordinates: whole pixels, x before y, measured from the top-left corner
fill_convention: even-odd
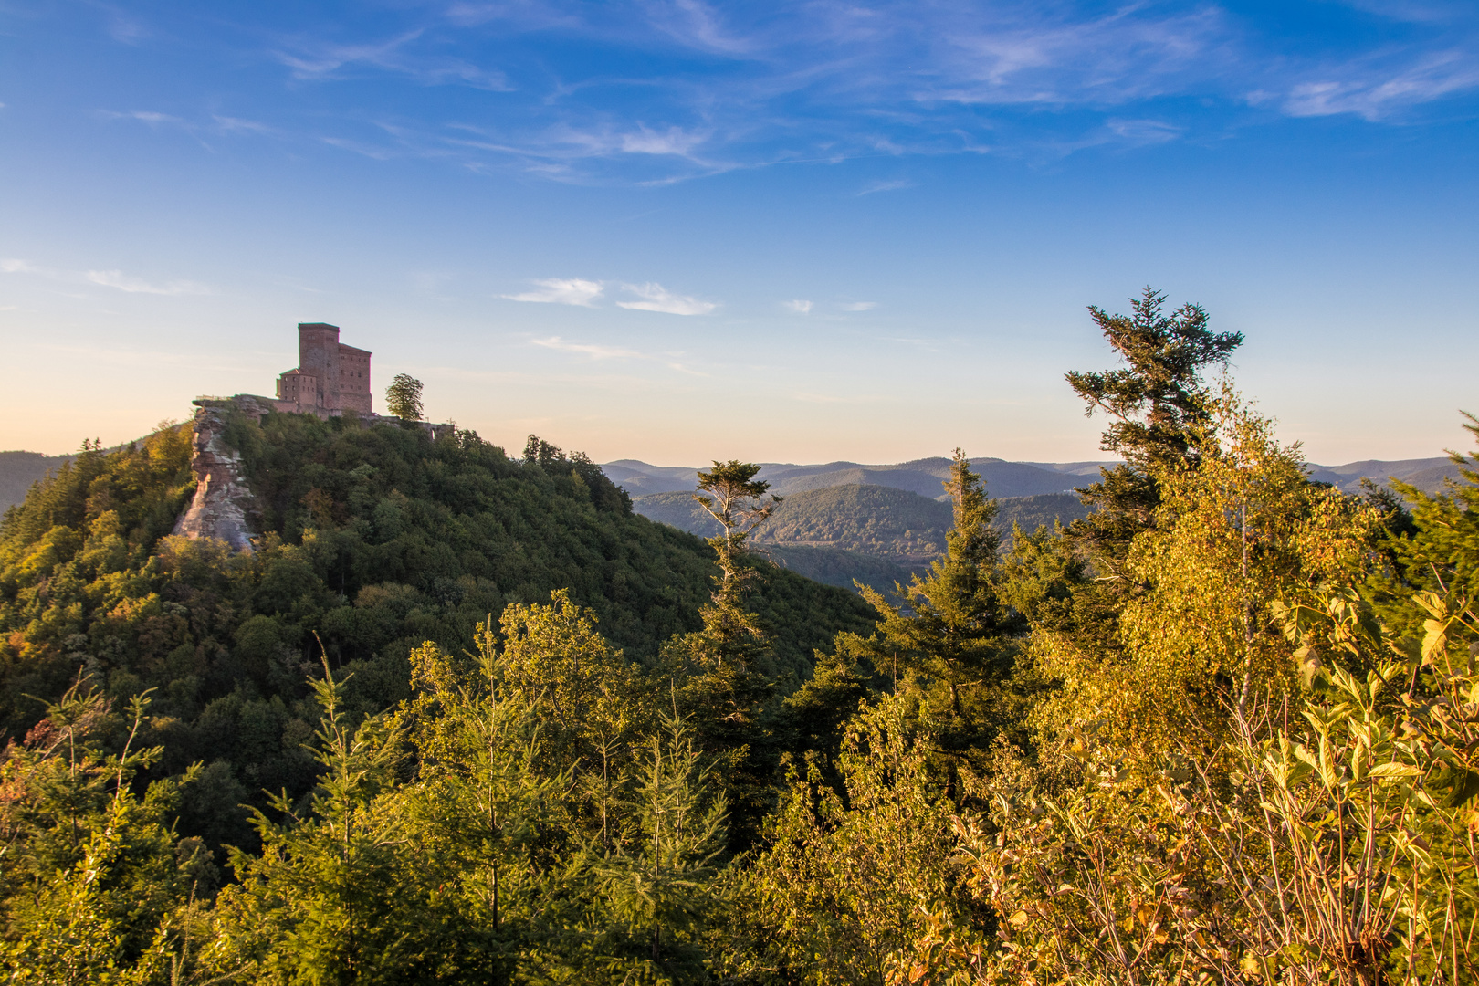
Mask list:
[[[1145,763],[1188,729],[1216,733],[1229,696],[1278,696],[1297,680],[1275,603],[1346,585],[1371,557],[1375,513],[1312,485],[1270,421],[1226,390],[1213,420],[1195,467],[1155,473],[1155,526],[1114,575],[1136,587],[1118,618],[1123,647],[1038,633],[1041,670],[1062,681],[1038,711],[1049,735],[1089,730]]]

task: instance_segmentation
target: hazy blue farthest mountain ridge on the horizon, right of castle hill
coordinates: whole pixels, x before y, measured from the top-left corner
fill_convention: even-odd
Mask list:
[[[1010,463],[1003,458],[970,460],[992,497],[1037,497],[1043,494],[1072,492],[1075,486],[1087,486],[1099,477],[1102,466],[1115,461],[1087,463]],[[658,492],[688,492],[694,489],[698,469],[682,466],[651,466],[634,458],[620,458],[605,463],[602,470],[618,486],[633,497]],[[1409,482],[1426,492],[1442,489],[1444,479],[1458,479],[1458,467],[1448,458],[1404,458],[1361,460],[1344,466],[1310,464],[1310,479],[1356,492],[1362,477],[1384,485],[1387,477]],[[944,495],[941,482],[950,476],[950,460],[917,458],[893,466],[868,466],[864,463],[822,463],[797,466],[793,463],[762,463],[760,479],[771,483],[772,492],[785,497],[809,489],[830,486],[892,486],[907,489],[932,500]]]

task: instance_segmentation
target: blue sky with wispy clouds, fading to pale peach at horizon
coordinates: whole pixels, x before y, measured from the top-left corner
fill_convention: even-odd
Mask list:
[[[1441,455],[1476,123],[1472,0],[0,0],[0,448],[324,321],[515,454],[1094,460],[1152,285],[1310,461]]]

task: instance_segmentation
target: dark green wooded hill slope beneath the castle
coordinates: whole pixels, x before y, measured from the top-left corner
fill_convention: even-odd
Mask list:
[[[84,449],[0,526],[6,736],[80,673],[120,702],[158,689],[160,770],[207,764],[186,795],[192,834],[250,838],[238,803],[311,786],[300,742],[318,720],[306,679],[321,647],[353,673],[353,707],[379,711],[410,693],[411,647],[460,653],[490,613],[552,590],[633,661],[701,625],[710,548],[633,514],[584,457],[546,446],[543,464],[524,463],[472,432],[432,441],[294,414],[234,414],[225,438],[260,504],[256,553],[170,537],[195,488],[188,427]],[[782,692],[809,676],[813,647],[871,625],[855,594],[784,571],[751,602]]]

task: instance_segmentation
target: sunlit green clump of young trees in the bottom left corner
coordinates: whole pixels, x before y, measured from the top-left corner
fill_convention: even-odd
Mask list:
[[[194,897],[214,890],[200,840],[170,825],[177,781],[132,782],[160,747],[139,748],[149,696],[130,701],[121,751],[111,702],[75,683],[0,763],[0,968],[12,983],[83,986],[151,982],[180,962]],[[198,767],[182,781],[195,779]]]

